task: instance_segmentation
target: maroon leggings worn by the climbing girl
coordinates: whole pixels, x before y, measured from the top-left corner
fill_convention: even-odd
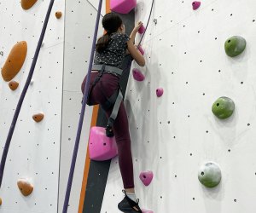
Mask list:
[[[90,88],[94,82],[97,72],[92,72],[90,77]],[[86,83],[86,77],[82,83],[82,92],[84,93],[84,86]],[[113,93],[119,89],[119,78],[113,74],[104,73],[101,80],[96,83],[90,93],[90,103],[93,105],[103,104],[107,101],[104,95],[110,97]],[[104,91],[104,95],[102,94]],[[108,110],[104,110],[109,117],[112,112],[113,107]],[[119,168],[121,171],[121,176],[123,179],[125,188],[134,187],[134,177],[133,177],[133,164],[131,158],[131,139],[129,133],[128,119],[125,111],[124,101],[121,102],[119,107],[119,112],[117,118],[113,124],[113,134],[118,147],[119,153]]]

